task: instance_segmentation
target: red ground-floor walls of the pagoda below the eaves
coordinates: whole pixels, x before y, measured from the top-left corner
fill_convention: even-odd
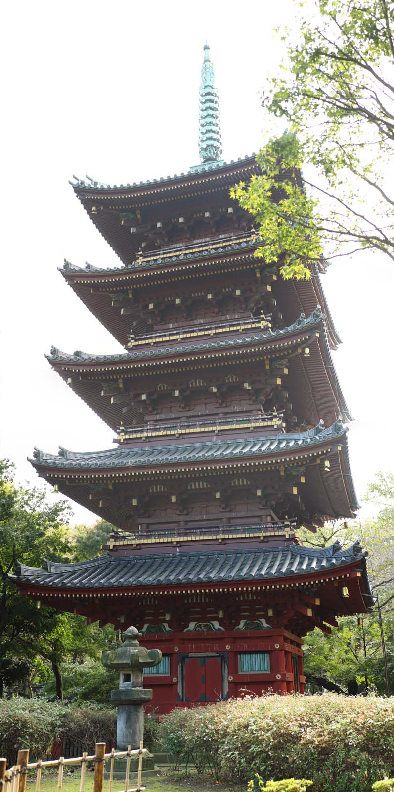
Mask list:
[[[145,634],[144,644],[164,656],[160,672],[144,678],[157,714],[268,691],[304,692],[301,638],[282,628]]]

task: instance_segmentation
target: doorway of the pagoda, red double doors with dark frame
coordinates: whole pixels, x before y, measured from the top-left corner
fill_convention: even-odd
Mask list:
[[[228,695],[225,653],[180,656],[180,702],[216,702],[227,699]]]

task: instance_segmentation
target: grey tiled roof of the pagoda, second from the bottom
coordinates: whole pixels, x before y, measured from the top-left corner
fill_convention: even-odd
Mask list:
[[[35,466],[86,469],[108,467],[138,467],[144,465],[163,465],[172,463],[193,463],[215,459],[239,459],[261,455],[280,454],[285,451],[299,451],[316,444],[337,440],[344,436],[347,428],[336,421],[329,428],[318,424],[308,432],[277,433],[274,436],[249,437],[248,439],[210,440],[209,443],[177,444],[152,447],[145,444],[135,448],[109,448],[107,451],[78,453],[60,447],[59,455],[46,454],[36,449]]]

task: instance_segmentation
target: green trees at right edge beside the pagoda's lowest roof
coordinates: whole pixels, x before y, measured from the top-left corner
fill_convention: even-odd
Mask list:
[[[366,501],[372,501],[379,511],[373,520],[364,523],[326,524],[315,535],[304,531],[302,541],[312,546],[325,546],[333,539],[344,543],[358,536],[369,552],[367,559],[373,593],[379,592],[381,618],[385,637],[388,675],[394,674],[394,476],[378,473],[367,488]],[[305,675],[323,687],[330,683],[338,692],[353,687],[354,680],[386,692],[381,630],[376,604],[369,614],[339,619],[339,626],[331,635],[313,630],[305,638]],[[327,685],[328,683],[328,685]],[[357,686],[356,686],[357,687]],[[331,687],[329,687],[331,689]]]

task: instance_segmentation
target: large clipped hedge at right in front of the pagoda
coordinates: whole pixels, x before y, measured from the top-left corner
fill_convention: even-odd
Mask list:
[[[313,792],[370,792],[394,775],[394,699],[278,696],[233,699],[161,719],[174,763],[215,781],[311,779]]]

